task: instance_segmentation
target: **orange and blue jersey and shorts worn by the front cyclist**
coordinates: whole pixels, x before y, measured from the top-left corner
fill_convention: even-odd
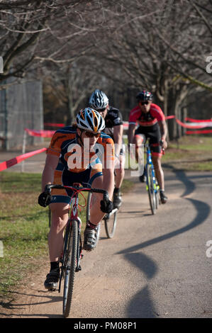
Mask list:
[[[103,167],[110,167],[114,157],[114,143],[111,137],[101,132],[93,149],[82,147],[77,142],[77,128],[67,126],[57,130],[52,136],[47,154],[59,157],[55,169],[54,184],[72,186],[73,183],[92,184],[102,175]],[[88,139],[89,140],[89,139]],[[51,203],[69,203],[72,191],[52,190]]]

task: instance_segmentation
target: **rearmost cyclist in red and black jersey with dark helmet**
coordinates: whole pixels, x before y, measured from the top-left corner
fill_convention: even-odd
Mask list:
[[[140,91],[136,98],[138,106],[130,111],[129,116],[128,143],[135,144],[135,158],[138,162],[138,149],[147,138],[150,138],[152,162],[160,186],[160,200],[166,203],[168,198],[164,193],[164,173],[161,166],[162,149],[167,148],[167,125],[164,113],[160,106],[152,103],[152,94],[149,91]],[[137,123],[139,127],[135,129]],[[145,181],[144,175],[140,176],[140,181]]]

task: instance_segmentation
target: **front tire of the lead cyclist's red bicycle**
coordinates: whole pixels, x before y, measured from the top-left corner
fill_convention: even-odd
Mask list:
[[[73,220],[71,230],[69,232],[69,238],[67,240],[67,249],[65,249],[66,267],[65,267],[65,279],[64,279],[63,301],[62,301],[62,313],[65,318],[69,316],[72,304],[74,275],[77,266],[77,235],[78,235],[77,220]]]

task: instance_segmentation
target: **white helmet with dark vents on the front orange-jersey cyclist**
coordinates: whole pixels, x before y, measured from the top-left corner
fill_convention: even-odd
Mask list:
[[[104,118],[101,114],[92,108],[85,108],[77,113],[77,127],[82,130],[100,132],[105,128]]]

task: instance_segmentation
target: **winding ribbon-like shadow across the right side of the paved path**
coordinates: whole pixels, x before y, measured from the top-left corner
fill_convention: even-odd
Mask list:
[[[189,194],[195,191],[196,185],[193,181],[191,181],[190,177],[186,176],[184,171],[178,171],[173,167],[172,171],[174,171],[174,173],[176,174],[176,178],[181,181],[185,186],[185,191],[184,193],[182,193],[181,198],[189,196]],[[200,177],[202,176],[200,175]],[[148,256],[141,252],[138,253],[137,251],[140,249],[144,249],[145,247],[148,247],[152,244],[156,244],[158,242],[162,242],[166,239],[170,239],[172,237],[180,235],[183,232],[187,232],[194,227],[201,225],[201,223],[203,223],[208,218],[208,215],[211,212],[210,206],[203,201],[195,200],[193,198],[184,199],[186,201],[189,201],[196,210],[196,217],[189,223],[189,225],[181,227],[178,230],[168,232],[167,234],[160,237],[149,239],[146,242],[142,242],[133,247],[128,247],[128,249],[124,249],[123,251],[117,253],[125,254],[125,258],[131,263],[133,263],[136,267],[138,267],[148,279],[151,279],[155,276],[155,273],[157,272],[157,265]],[[159,315],[155,311],[154,304],[152,303],[148,286],[145,286],[140,290],[139,293],[136,293],[133,299],[130,300],[130,302],[128,303],[128,317],[154,318],[158,316]]]

